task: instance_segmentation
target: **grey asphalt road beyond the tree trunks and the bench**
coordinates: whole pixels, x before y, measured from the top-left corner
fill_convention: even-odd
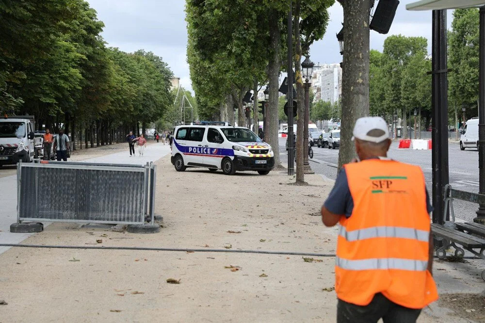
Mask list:
[[[280,138],[279,147],[282,160],[288,158],[285,149],[286,139]],[[327,178],[337,177],[339,149],[318,148],[313,146],[313,160],[310,160],[312,170]],[[450,183],[453,187],[469,192],[478,192],[478,151],[467,148],[460,150],[458,143],[449,143]],[[389,157],[397,161],[415,164],[421,167],[426,179],[426,186],[432,190],[431,150],[399,149],[398,142],[393,142]],[[465,221],[471,221],[478,206],[473,203],[454,201],[456,216]]]

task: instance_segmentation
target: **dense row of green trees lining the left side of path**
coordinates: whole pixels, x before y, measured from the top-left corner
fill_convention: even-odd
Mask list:
[[[173,104],[162,58],[107,48],[83,0],[0,2],[0,109],[32,114],[40,129],[64,126],[85,145],[124,139]]]

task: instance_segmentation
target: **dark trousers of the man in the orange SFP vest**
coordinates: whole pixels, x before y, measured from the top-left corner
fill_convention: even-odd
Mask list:
[[[337,323],[415,323],[420,309],[407,308],[388,300],[383,294],[374,295],[367,306],[358,306],[339,300],[337,304]]]

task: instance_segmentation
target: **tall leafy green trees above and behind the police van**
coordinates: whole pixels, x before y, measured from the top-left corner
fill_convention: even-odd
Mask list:
[[[297,87],[298,115],[303,116],[301,58],[310,45],[323,37],[328,12],[334,0],[293,3],[293,61]],[[269,84],[269,107],[265,138],[278,146],[279,74],[284,70],[287,44],[288,0],[187,0],[187,57],[199,115],[203,118],[245,124],[242,98],[252,90],[257,97],[262,85]],[[258,100],[253,105],[254,124],[258,124]],[[303,118],[298,120],[303,122]],[[303,123],[302,123],[303,125]],[[298,130],[303,131],[303,126]],[[303,140],[303,135],[297,138]],[[297,160],[303,162],[303,143],[297,144]],[[275,163],[279,164],[275,150]],[[301,171],[301,174],[299,172]],[[297,181],[303,178],[303,165],[297,163]]]

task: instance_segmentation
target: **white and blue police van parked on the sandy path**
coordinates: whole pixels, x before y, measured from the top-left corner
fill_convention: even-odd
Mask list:
[[[203,167],[212,172],[222,169],[226,175],[236,171],[267,175],[275,166],[270,145],[250,129],[227,123],[177,126],[171,161],[178,172],[187,167]]]

